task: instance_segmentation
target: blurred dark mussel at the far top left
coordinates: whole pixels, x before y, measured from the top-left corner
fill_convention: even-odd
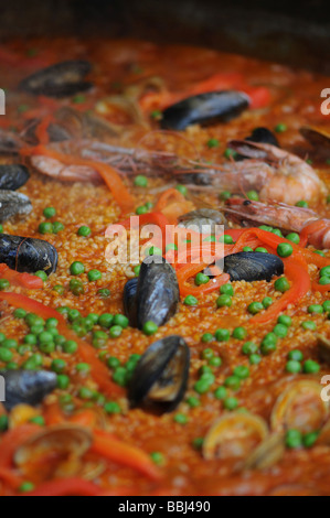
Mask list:
[[[84,77],[92,69],[87,61],[66,61],[36,72],[23,79],[19,88],[28,94],[71,97],[92,87]]]

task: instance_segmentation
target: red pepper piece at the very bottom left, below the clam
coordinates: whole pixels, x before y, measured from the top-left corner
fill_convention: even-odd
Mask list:
[[[102,493],[99,486],[84,478],[57,478],[42,483],[23,496],[99,496]]]

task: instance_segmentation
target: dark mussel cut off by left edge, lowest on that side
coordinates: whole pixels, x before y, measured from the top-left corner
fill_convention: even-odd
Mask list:
[[[8,411],[21,403],[40,404],[57,385],[56,374],[46,370],[6,370],[0,376],[4,378],[3,406]]]

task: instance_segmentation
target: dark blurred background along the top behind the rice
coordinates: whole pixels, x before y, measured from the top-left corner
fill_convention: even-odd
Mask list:
[[[329,0],[0,0],[1,39],[67,34],[192,43],[330,75]]]

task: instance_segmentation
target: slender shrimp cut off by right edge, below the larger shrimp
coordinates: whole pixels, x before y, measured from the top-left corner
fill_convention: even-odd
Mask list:
[[[241,224],[264,224],[296,231],[300,234],[301,245],[308,241],[318,249],[330,249],[330,219],[320,217],[310,208],[238,197],[230,198],[226,205],[227,216]]]

